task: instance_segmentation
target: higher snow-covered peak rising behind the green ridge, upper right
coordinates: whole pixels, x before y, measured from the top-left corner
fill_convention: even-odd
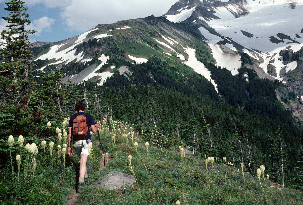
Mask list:
[[[303,46],[302,0],[180,0],[165,14],[169,21],[196,24],[211,47],[217,65],[239,67],[237,58],[228,62],[224,45],[243,50],[258,60],[258,67],[275,79],[297,67],[283,64],[280,51],[297,52]],[[234,71],[236,73],[236,71]]]

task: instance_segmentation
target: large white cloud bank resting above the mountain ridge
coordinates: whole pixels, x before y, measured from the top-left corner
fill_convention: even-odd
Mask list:
[[[175,2],[176,0],[71,0],[68,6],[62,8],[61,17],[71,30],[88,30],[97,24],[144,18],[152,14],[161,16]]]

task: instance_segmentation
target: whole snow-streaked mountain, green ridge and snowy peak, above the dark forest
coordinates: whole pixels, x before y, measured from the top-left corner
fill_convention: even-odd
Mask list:
[[[303,119],[302,11],[303,0],[180,0],[164,18],[99,24],[79,36],[48,44],[35,60],[43,61],[42,71],[46,66],[61,69],[65,80],[98,80],[102,85],[114,71],[128,72],[114,58],[142,63],[156,55],[177,68],[192,68],[217,89],[211,72],[197,59],[237,75],[242,63],[238,51],[242,51],[253,61],[247,67],[262,78],[280,80],[298,96],[298,103],[285,107],[295,109]]]

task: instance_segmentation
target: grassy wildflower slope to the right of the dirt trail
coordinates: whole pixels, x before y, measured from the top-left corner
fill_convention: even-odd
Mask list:
[[[81,190],[78,203],[175,204],[177,200],[181,201],[181,204],[303,203],[301,191],[282,187],[268,179],[265,180],[265,185],[261,177],[263,191],[258,177],[254,176],[255,173],[247,174],[249,168],[244,169],[244,185],[240,164],[230,167],[218,159],[218,162],[214,162],[214,165],[218,166],[216,173],[210,163],[206,172],[204,158],[189,154],[182,163],[177,146],[162,148],[161,151],[159,145],[151,142],[147,154],[142,135],[135,136],[134,140],[138,142],[138,156],[131,134],[125,132],[124,125],[112,123],[112,126],[104,126],[101,132],[105,151],[111,154],[102,174],[116,170],[133,175],[128,164],[128,155],[132,155],[132,168],[138,181],[119,190],[104,190],[89,184]],[[116,132],[113,131],[113,126]],[[118,134],[120,132],[122,135]],[[113,134],[116,134],[115,145],[112,144]]]

